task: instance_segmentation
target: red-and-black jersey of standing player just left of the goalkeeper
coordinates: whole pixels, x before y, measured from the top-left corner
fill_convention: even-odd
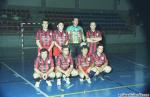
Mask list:
[[[58,30],[54,31],[55,34],[55,41],[59,46],[65,45],[67,41],[69,41],[69,36],[65,31],[60,32]]]

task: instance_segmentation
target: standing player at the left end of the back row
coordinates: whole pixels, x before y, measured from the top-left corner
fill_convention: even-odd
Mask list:
[[[49,56],[52,57],[52,47],[54,45],[53,42],[53,34],[52,31],[48,30],[48,21],[42,21],[42,29],[39,29],[36,33],[36,44],[38,46],[38,56],[40,55],[40,50],[42,48],[46,48],[49,52]]]

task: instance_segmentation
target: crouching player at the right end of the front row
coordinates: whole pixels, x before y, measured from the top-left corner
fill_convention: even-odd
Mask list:
[[[93,76],[99,75],[101,72],[109,73],[112,68],[108,66],[108,60],[106,55],[103,53],[103,45],[97,46],[97,51],[93,55],[94,67],[91,69]]]

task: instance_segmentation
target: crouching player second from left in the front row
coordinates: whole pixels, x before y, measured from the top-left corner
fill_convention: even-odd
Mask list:
[[[64,77],[67,84],[70,84],[70,76],[77,76],[77,70],[73,69],[72,56],[69,53],[67,45],[62,46],[62,54],[58,57],[56,63],[57,85],[61,85],[61,77]]]

